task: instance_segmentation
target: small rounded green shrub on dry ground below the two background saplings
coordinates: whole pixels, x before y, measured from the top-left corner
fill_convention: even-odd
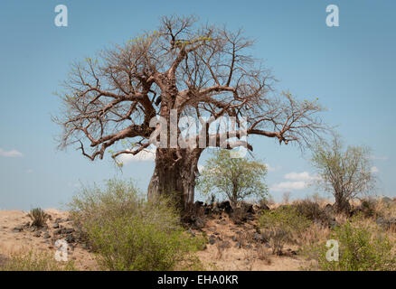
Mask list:
[[[298,243],[301,233],[311,222],[299,214],[296,208],[281,206],[275,210],[266,210],[259,219],[264,238],[269,240],[272,254],[282,254],[287,243]]]

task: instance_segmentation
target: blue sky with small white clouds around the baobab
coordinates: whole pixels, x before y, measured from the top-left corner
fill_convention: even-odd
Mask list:
[[[54,7],[67,5],[69,26],[54,25]],[[340,26],[325,25],[325,7],[338,5]],[[165,14],[196,14],[203,22],[243,27],[256,39],[254,55],[279,80],[276,89],[319,98],[325,121],[346,144],[372,147],[379,193],[396,196],[393,144],[396,93],[396,2],[301,1],[27,1],[0,3],[0,209],[59,207],[79,182],[133,177],[146,190],[154,162],[130,162],[118,172],[108,158],[94,163],[57,151],[52,123],[72,61],[80,61],[142,30]],[[269,163],[276,198],[312,193],[313,171],[297,146],[254,138],[255,155]],[[203,164],[203,162],[202,162]],[[297,183],[299,182],[299,183]],[[303,183],[304,182],[304,183]],[[294,188],[294,189],[293,189]]]

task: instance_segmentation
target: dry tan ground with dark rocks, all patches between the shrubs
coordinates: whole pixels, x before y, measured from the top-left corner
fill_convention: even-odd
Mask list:
[[[381,216],[377,217],[370,202],[354,205],[354,214],[372,216],[372,222],[385,229],[393,228],[390,232],[396,233],[396,200],[382,198],[380,202],[373,201],[377,203],[376,210],[382,211]],[[323,208],[325,214],[331,216],[332,205],[327,202]],[[208,270],[301,270],[310,265],[298,253],[297,247],[284,247],[281,256],[272,254],[258,227],[260,212],[269,210],[266,205],[242,202],[240,208],[232,210],[227,201],[212,205],[197,201],[194,210],[193,218],[184,219],[184,226],[191,235],[203,234],[207,238],[208,244],[197,256]],[[43,228],[33,227],[27,212],[22,210],[0,211],[0,266],[14,253],[32,249],[55,256],[57,240],[63,240],[68,244],[69,258],[79,270],[99,270],[95,254],[73,228],[69,213],[60,210],[45,211],[51,218]],[[319,220],[319,223],[321,221],[323,220]],[[339,221],[335,218],[325,219],[315,234],[320,230],[326,233],[326,229],[338,226]]]

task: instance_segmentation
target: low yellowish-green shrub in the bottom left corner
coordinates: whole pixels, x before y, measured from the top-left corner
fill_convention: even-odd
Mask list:
[[[53,253],[38,253],[29,251],[25,254],[10,256],[0,271],[75,271],[74,264],[58,262]]]

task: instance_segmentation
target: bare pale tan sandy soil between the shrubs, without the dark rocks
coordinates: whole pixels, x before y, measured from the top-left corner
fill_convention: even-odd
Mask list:
[[[0,211],[0,256],[31,249],[52,252],[55,254],[56,238],[52,228],[56,219],[61,219],[61,228],[71,228],[68,213],[60,210],[45,210],[52,216],[47,221],[48,228],[42,230],[41,237],[35,237],[34,231],[24,228],[15,232],[14,228],[22,226],[30,219],[22,210]],[[203,231],[208,237],[215,238],[214,243],[208,244],[206,249],[197,253],[203,265],[211,270],[300,270],[307,266],[307,261],[293,254],[293,247],[285,247],[284,256],[271,255],[271,250],[259,242],[247,242],[248,236],[255,232],[255,220],[248,220],[242,225],[233,224],[227,216],[222,219],[208,219]],[[198,230],[193,230],[200,234]],[[48,233],[51,238],[43,238]],[[240,244],[240,246],[238,246]],[[259,248],[258,248],[259,246]],[[69,257],[74,260],[75,266],[80,270],[97,270],[99,266],[93,253],[80,244],[72,244],[69,248]]]

